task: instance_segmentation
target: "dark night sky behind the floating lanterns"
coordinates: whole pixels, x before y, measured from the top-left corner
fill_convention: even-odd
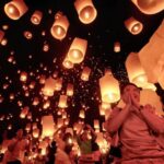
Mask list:
[[[86,110],[86,122],[93,124],[93,119],[103,121],[104,118],[98,114],[101,103],[98,79],[103,77],[106,68],[110,68],[119,82],[128,81],[125,69],[126,57],[130,51],[139,51],[148,43],[164,16],[162,12],[145,15],[130,0],[94,0],[97,17],[93,23],[85,25],[78,19],[73,5],[74,0],[25,0],[28,11],[20,20],[13,21],[3,11],[7,2],[9,1],[0,1],[0,30],[3,25],[9,25],[9,30],[4,31],[8,44],[5,46],[0,45],[0,95],[3,99],[0,103],[0,116],[4,115],[4,120],[0,121],[2,129],[9,124],[13,124],[13,128],[16,127],[15,120],[20,122],[20,126],[24,126],[26,122],[35,121],[49,113],[54,114],[56,120],[59,95],[65,92],[68,82],[74,83],[74,95],[68,99],[69,107],[67,108],[70,124],[78,121],[79,109],[83,106]],[[43,12],[43,20],[39,25],[34,25],[30,21],[35,10]],[[49,10],[51,13],[48,12]],[[70,22],[67,36],[62,42],[55,39],[50,34],[57,11],[62,11]],[[124,25],[124,21],[130,16],[143,23],[143,31],[139,35],[130,34]],[[26,39],[23,35],[24,31],[30,31],[33,38]],[[45,36],[42,35],[43,31],[46,32]],[[87,50],[82,63],[77,65],[72,70],[67,70],[62,67],[62,60],[74,37],[87,39]],[[121,44],[120,52],[114,52],[114,43],[117,40]],[[43,51],[44,44],[49,45],[48,51]],[[8,61],[11,55],[16,62],[15,65]],[[80,80],[84,66],[92,69],[89,82]],[[25,85],[32,81],[36,82],[35,89],[30,91],[30,96],[24,95],[19,70],[28,73]],[[62,91],[55,93],[55,96],[49,98],[51,104],[48,109],[42,109],[44,99],[39,95],[40,84],[37,77],[45,74],[48,78],[55,71],[63,78]],[[30,75],[32,72],[33,74]],[[4,84],[9,85],[5,90],[3,89]],[[159,84],[156,86],[157,94],[164,102],[164,91]],[[10,93],[15,94],[13,101],[9,99]],[[37,107],[32,105],[35,96],[38,96],[40,101]],[[32,120],[17,119],[22,108],[17,105],[17,101],[23,103],[22,107],[30,107],[33,115]],[[10,114],[13,117],[8,119]]]

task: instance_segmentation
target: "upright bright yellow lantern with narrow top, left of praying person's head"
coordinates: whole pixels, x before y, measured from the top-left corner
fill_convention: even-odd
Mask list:
[[[120,98],[119,83],[112,74],[110,70],[99,79],[102,102],[116,103]]]

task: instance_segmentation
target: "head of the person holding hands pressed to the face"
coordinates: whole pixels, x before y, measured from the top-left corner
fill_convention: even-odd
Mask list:
[[[134,85],[127,85],[122,92],[122,101],[128,102],[129,95],[133,96],[137,102],[140,101],[140,89]]]

